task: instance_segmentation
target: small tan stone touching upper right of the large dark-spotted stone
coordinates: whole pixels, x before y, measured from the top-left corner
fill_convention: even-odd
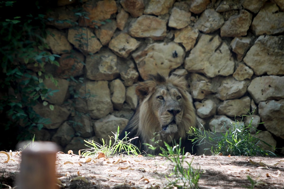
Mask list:
[[[197,29],[187,26],[186,28],[175,31],[174,42],[181,43],[185,48],[185,51],[189,51],[194,47],[198,34],[199,32]]]

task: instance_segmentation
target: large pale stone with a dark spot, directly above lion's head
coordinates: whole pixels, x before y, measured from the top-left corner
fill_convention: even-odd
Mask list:
[[[171,70],[183,63],[184,56],[183,49],[174,42],[153,43],[132,54],[143,79],[156,73],[168,76]]]

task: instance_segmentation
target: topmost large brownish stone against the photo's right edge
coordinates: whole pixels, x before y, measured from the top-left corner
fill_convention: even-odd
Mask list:
[[[284,32],[284,12],[275,3],[265,3],[253,19],[251,28],[256,35],[272,35]]]

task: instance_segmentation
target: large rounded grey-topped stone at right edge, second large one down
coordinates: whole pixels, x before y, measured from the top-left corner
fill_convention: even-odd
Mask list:
[[[244,62],[252,68],[254,74],[284,74],[284,35],[261,35],[247,52]]]

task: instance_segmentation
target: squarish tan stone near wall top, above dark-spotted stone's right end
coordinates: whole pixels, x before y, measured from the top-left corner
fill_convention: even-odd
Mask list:
[[[191,22],[190,16],[191,12],[179,10],[178,8],[174,7],[169,18],[168,26],[176,29],[185,28]]]

